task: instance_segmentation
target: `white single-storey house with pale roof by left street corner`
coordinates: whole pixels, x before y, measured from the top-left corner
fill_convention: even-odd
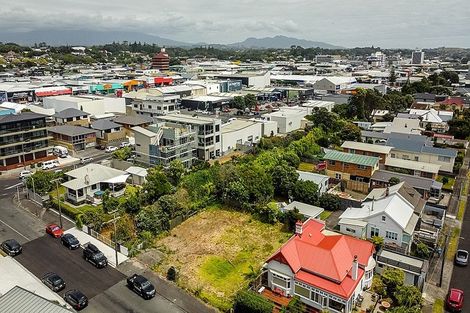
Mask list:
[[[87,164],[65,173],[68,181],[62,183],[67,189],[67,200],[71,203],[100,202],[101,195],[109,190],[111,195],[124,194],[129,174],[101,164]]]

